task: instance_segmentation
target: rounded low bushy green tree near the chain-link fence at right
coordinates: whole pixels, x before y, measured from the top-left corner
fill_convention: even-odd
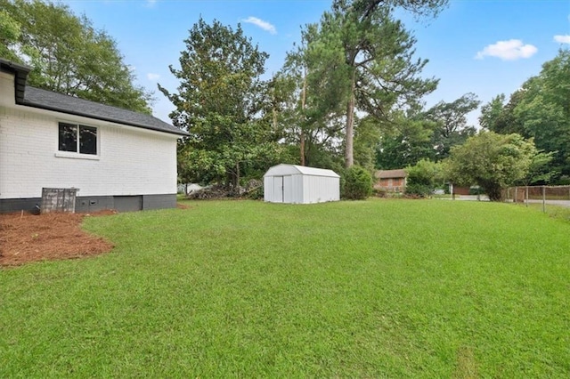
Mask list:
[[[477,184],[492,201],[501,201],[501,189],[523,180],[536,155],[533,141],[517,133],[481,132],[452,148],[447,176],[454,184]]]

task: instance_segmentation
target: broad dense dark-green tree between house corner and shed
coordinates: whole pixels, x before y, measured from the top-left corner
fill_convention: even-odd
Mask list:
[[[184,181],[220,182],[236,189],[240,178],[279,159],[272,123],[272,94],[261,79],[268,55],[238,25],[234,31],[201,18],[181,52],[177,93],[159,90],[173,102],[174,125],[191,135],[179,145]]]

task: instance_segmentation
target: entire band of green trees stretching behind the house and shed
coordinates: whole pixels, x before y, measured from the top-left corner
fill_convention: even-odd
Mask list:
[[[170,65],[178,87],[158,87],[175,105],[173,124],[190,133],[178,144],[180,180],[237,189],[287,162],[339,173],[407,167],[420,193],[442,176],[493,199],[514,183],[570,182],[567,50],[509,101],[485,104],[480,130],[467,119],[481,105],[474,93],[425,108],[438,79],[422,76],[428,60],[395,12],[430,19],[447,4],[333,0],[269,78],[268,54],[240,24],[200,18]],[[0,55],[32,67],[30,85],[150,112],[152,93],[134,85],[115,40],[66,5],[0,0],[0,41]]]

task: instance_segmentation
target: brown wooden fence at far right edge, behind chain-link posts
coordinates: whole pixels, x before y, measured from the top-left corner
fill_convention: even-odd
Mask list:
[[[503,191],[505,201],[521,203],[542,203],[542,211],[547,205],[570,207],[570,186],[519,186]]]

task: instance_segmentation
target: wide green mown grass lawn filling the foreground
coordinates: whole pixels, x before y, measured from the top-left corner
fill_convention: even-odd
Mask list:
[[[0,377],[568,377],[570,223],[523,206],[252,201],[88,218],[0,269]]]

